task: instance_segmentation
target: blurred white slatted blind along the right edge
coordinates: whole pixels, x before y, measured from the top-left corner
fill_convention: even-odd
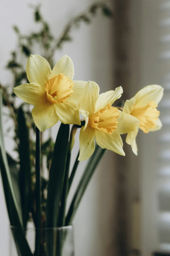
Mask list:
[[[160,1],[159,60],[161,84],[164,87],[160,102],[163,128],[158,137],[158,242],[163,251],[170,251],[170,1]]]

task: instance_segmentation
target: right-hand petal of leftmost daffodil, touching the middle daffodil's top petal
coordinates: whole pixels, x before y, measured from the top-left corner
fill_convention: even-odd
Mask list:
[[[80,102],[80,96],[82,94],[82,91],[87,84],[86,81],[73,81],[74,86],[73,86],[73,94],[71,97],[67,98],[69,102],[74,102],[77,106]]]

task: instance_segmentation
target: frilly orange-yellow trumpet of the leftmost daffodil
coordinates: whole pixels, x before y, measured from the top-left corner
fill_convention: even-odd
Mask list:
[[[67,102],[65,99],[73,94],[73,85],[73,81],[64,74],[51,77],[45,83],[47,100],[52,104]]]

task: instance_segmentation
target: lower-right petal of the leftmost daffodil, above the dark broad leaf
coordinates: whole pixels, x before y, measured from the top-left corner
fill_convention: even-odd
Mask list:
[[[69,102],[54,104],[59,120],[63,124],[80,125],[79,111],[74,104]]]

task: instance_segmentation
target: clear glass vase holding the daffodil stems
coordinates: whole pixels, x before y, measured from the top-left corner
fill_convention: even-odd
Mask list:
[[[21,240],[18,246],[18,240],[23,233],[34,256],[74,256],[73,226],[39,230],[35,228],[21,230],[21,228],[11,226],[9,256],[26,255],[25,252],[21,253],[19,248],[22,247]],[[38,245],[35,242],[36,237],[40,237]],[[38,247],[38,252],[36,252],[35,247]],[[22,251],[24,251],[24,248],[22,248]]]

